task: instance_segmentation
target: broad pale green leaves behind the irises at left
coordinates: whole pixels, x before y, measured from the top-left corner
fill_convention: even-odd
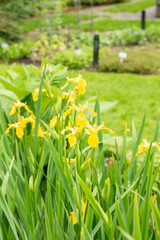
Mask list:
[[[42,68],[37,68],[33,65],[27,66],[23,64],[20,66],[13,64],[1,74],[0,101],[5,110],[9,110],[16,100],[31,100],[31,93],[40,85]],[[66,80],[66,73],[66,67],[47,65],[46,75],[55,97],[57,87],[62,86]],[[45,105],[44,102],[43,104]]]

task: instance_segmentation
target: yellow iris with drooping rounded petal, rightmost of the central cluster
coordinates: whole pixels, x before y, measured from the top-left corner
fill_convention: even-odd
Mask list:
[[[110,133],[113,133],[111,129],[104,127],[104,123],[102,123],[98,127],[96,124],[94,124],[94,126],[91,126],[90,124],[88,124],[86,133],[89,134],[88,144],[90,147],[96,148],[98,146],[98,143],[99,143],[98,132],[100,130],[108,130]]]

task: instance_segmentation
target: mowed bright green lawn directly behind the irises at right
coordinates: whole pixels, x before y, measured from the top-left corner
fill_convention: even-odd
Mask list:
[[[87,71],[69,71],[69,76],[79,73],[87,80],[83,101],[97,95],[106,101],[118,101],[114,108],[102,114],[106,127],[113,129],[115,135],[121,135],[122,120],[130,129],[134,120],[139,130],[146,112],[144,137],[152,140],[160,112],[160,76]]]

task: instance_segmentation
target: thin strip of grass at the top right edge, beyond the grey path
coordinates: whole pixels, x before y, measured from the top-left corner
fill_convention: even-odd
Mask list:
[[[140,12],[146,8],[152,7],[156,5],[155,0],[144,0],[144,1],[139,1],[135,2],[132,4],[116,4],[115,7],[111,8],[106,8],[104,11],[107,12],[131,12],[131,13],[136,13]]]

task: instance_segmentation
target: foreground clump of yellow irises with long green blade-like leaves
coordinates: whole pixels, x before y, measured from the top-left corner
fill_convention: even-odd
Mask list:
[[[85,79],[66,81],[66,69],[50,64],[32,77],[27,98],[11,88],[16,102],[9,112],[1,104],[1,239],[158,239],[159,121],[151,144],[142,140],[145,116],[138,135],[132,125],[129,159],[123,124],[122,153],[106,165],[102,132],[112,131],[98,98],[79,105]]]

